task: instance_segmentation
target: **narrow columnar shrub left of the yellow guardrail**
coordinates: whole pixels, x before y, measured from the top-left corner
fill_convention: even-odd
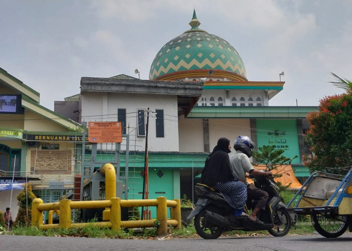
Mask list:
[[[23,191],[17,196],[19,210],[14,226],[30,226],[32,220],[32,201],[36,196],[30,183],[23,184]],[[28,208],[27,208],[28,205]]]

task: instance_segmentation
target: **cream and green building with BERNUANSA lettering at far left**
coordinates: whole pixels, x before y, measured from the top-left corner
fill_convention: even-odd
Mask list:
[[[0,68],[0,209],[11,207],[14,219],[23,183],[30,181],[44,201],[56,201],[72,189],[80,168],[76,163],[80,124],[39,101],[37,91]]]

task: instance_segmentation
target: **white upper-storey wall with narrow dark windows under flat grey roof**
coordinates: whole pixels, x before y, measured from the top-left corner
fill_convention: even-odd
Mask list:
[[[130,135],[130,151],[144,151],[145,137],[137,137],[137,110],[148,107],[164,110],[164,138],[156,138],[155,113],[150,113],[148,150],[179,151],[177,96],[135,93],[85,92],[82,94],[83,121],[117,121],[117,109],[126,109],[126,134]],[[145,117],[145,122],[146,122]],[[122,149],[125,149],[122,143]]]

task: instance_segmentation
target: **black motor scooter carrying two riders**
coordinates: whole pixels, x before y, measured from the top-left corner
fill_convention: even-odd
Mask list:
[[[267,169],[272,170],[273,166],[268,163]],[[265,210],[260,210],[257,219],[252,220],[245,216],[235,216],[233,208],[226,202],[223,195],[214,188],[197,183],[195,191],[199,197],[196,208],[187,217],[187,220],[194,219],[197,233],[205,239],[216,239],[225,231],[242,230],[256,231],[268,230],[273,236],[284,236],[291,228],[291,217],[286,209],[280,189],[272,176],[252,176],[254,185],[269,194]],[[255,207],[256,201],[252,201],[250,209]],[[245,206],[245,213],[248,209]]]

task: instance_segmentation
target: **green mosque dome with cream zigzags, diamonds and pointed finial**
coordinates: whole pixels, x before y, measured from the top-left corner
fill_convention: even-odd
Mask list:
[[[224,70],[246,78],[243,61],[226,40],[198,28],[196,12],[191,30],[167,42],[156,54],[149,79],[180,71],[207,69]]]

